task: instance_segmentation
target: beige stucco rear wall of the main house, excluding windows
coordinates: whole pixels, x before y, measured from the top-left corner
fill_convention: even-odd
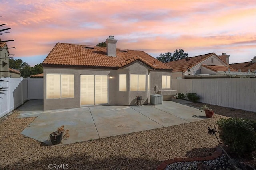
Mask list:
[[[46,74],[74,74],[74,98],[46,99]],[[126,74],[127,91],[119,91],[119,75]],[[130,91],[130,75],[146,75],[145,91]],[[152,71],[140,61],[112,69],[70,69],[44,67],[44,110],[66,109],[80,107],[80,75],[108,75],[108,105],[136,105],[136,96],[142,96],[143,104],[150,102],[150,94],[155,94],[162,87],[162,75],[171,75],[170,71]],[[150,75],[150,89],[148,89],[148,75]],[[154,87],[158,86],[157,91]]]

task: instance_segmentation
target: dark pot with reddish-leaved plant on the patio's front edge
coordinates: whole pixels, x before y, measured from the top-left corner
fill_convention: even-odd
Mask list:
[[[64,130],[64,125],[60,128],[57,128],[55,132],[51,132],[50,139],[53,145],[59,144],[62,139],[66,139],[69,137],[68,135],[69,130]]]

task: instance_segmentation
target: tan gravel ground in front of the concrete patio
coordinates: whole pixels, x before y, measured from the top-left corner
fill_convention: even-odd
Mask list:
[[[229,111],[229,110],[228,110]],[[22,134],[35,117],[16,118],[18,111],[1,119],[0,169],[90,169],[155,170],[163,161],[180,157],[211,155],[218,142],[208,126],[212,119],[101,138],[98,140],[46,146]],[[72,134],[70,134],[72,136]],[[67,139],[68,140],[68,139]]]

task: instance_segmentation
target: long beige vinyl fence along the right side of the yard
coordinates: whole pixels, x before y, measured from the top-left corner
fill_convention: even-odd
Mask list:
[[[256,112],[256,79],[172,79],[178,93],[196,93],[200,102]]]

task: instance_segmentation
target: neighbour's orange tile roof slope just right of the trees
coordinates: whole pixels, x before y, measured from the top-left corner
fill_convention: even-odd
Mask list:
[[[212,57],[213,55],[216,55],[216,54],[209,53],[209,54],[204,54],[204,55],[198,55],[195,57],[189,57],[189,58],[180,59],[177,61],[170,61],[165,64],[172,67],[172,69],[173,69],[172,72],[185,72],[185,71],[187,71],[187,68],[191,69],[192,67],[198,65],[199,63],[208,59],[209,57]]]

